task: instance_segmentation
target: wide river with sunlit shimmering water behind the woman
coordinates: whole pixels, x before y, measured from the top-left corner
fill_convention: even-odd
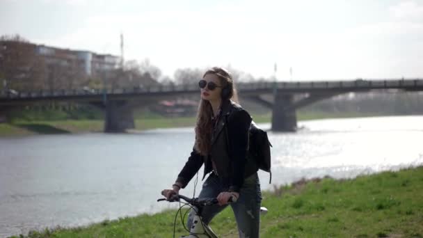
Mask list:
[[[262,189],[301,177],[356,177],[423,164],[423,116],[298,125],[296,133],[269,132],[272,184],[260,171]],[[193,128],[0,138],[0,237],[176,207],[156,199],[175,181],[193,139]],[[202,168],[197,195],[201,178]],[[193,195],[194,180],[183,194]]]

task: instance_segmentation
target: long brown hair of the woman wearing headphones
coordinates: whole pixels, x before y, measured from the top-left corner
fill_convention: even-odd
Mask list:
[[[218,79],[221,81],[223,88],[230,88],[230,92],[227,98],[223,100],[232,100],[238,103],[238,94],[234,86],[234,81],[232,80],[232,75],[230,72],[223,68],[213,67],[205,72],[202,76],[203,78],[207,74],[216,74]],[[195,145],[194,148],[197,152],[200,152],[202,155],[209,154],[212,141],[212,116],[213,109],[212,105],[207,100],[200,99],[200,104],[198,105],[197,110],[197,122],[195,125]]]

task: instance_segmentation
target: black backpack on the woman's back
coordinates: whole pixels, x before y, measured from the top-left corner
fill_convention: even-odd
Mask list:
[[[228,136],[228,118],[226,118],[226,136]],[[229,145],[229,139],[226,138]],[[273,147],[267,137],[267,132],[258,127],[253,120],[248,133],[248,157],[254,159],[257,167],[270,173],[269,184],[272,181],[271,172],[271,153],[270,148]]]

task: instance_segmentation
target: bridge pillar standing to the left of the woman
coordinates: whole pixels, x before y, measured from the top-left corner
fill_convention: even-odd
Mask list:
[[[108,101],[105,107],[104,132],[134,129],[134,111],[127,101]]]

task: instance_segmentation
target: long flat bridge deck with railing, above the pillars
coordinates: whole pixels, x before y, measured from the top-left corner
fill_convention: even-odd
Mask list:
[[[372,89],[404,89],[404,90],[423,90],[422,79],[400,79],[400,80],[354,80],[354,81],[260,81],[252,83],[240,82],[237,84],[237,90],[247,94],[272,93],[273,90],[286,93],[310,93],[319,91],[360,91]],[[152,86],[147,88],[121,88],[114,90],[57,90],[54,92],[40,90],[33,92],[16,92],[9,90],[0,93],[0,102],[10,100],[72,100],[78,97],[99,97],[99,96],[135,96],[135,95],[170,95],[181,93],[198,93],[198,86],[178,85],[178,86]]]

